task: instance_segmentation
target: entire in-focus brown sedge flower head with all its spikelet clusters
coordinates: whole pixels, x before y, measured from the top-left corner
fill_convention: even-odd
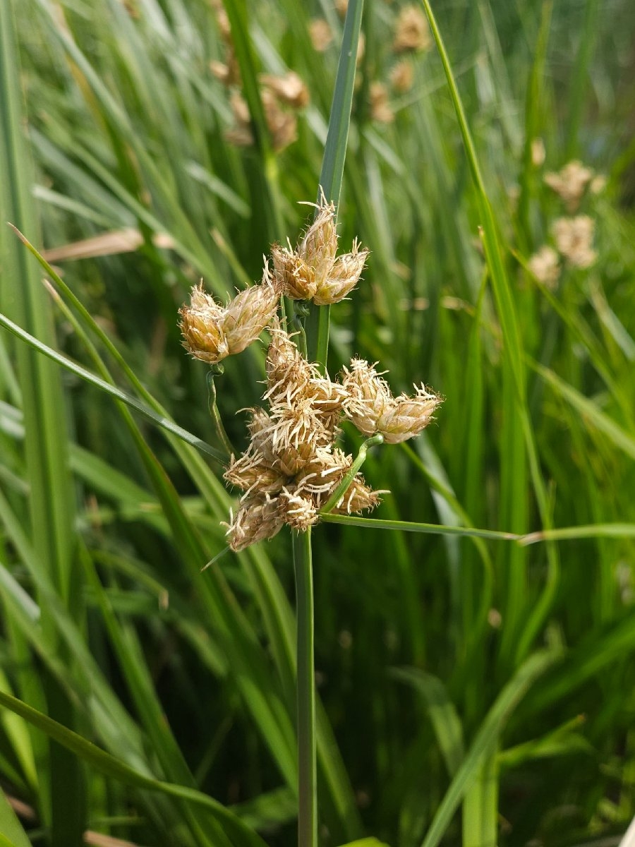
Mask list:
[[[273,538],[284,524],[306,531],[320,511],[350,514],[372,509],[381,491],[373,491],[359,473],[357,459],[337,446],[340,423],[348,419],[364,435],[382,435],[389,444],[418,435],[439,406],[439,396],[423,385],[413,396],[393,396],[373,365],[353,359],[339,380],[324,376],[301,355],[279,324],[284,294],[318,305],[342,300],[356,285],[368,255],[353,242],[337,255],[335,208],[322,196],[312,225],[295,249],[273,245],[273,274],[268,262],[260,285],[252,285],[221,306],[197,285],[191,302],[179,310],[184,346],[192,356],[216,364],[241,352],[268,329],[267,407],[250,410],[250,441],[232,456],[224,479],[242,491],[240,505],[227,524],[229,546],[243,550]],[[378,442],[381,439],[376,439]]]

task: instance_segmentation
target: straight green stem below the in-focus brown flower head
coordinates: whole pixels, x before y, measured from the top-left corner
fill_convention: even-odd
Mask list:
[[[317,847],[311,529],[293,534],[297,607],[298,847]]]

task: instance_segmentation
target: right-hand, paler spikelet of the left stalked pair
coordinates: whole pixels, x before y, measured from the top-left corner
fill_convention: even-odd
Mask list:
[[[251,285],[229,303],[223,329],[230,353],[240,353],[273,321],[279,306],[279,290],[265,265],[261,285]]]

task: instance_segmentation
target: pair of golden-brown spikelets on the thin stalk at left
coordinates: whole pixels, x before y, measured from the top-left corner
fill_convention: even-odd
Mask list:
[[[183,346],[197,359],[216,364],[240,353],[268,326],[279,305],[279,289],[265,265],[260,285],[251,285],[220,306],[203,291],[202,283],[191,291],[189,306],[179,309]]]

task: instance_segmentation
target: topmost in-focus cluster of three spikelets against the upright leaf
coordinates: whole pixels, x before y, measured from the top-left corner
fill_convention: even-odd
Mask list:
[[[276,280],[292,300],[312,300],[317,306],[340,302],[362,275],[368,256],[353,241],[350,253],[337,256],[335,207],[322,196],[317,214],[295,249],[274,244],[271,248]]]

